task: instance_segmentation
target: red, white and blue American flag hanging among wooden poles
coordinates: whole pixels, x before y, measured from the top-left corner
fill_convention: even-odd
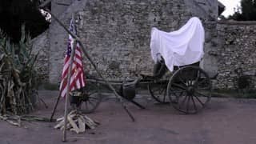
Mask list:
[[[76,34],[73,18],[70,21],[70,31]],[[67,75],[70,67],[70,60],[71,60],[70,55],[71,55],[71,50],[73,49],[73,43],[74,43],[74,38],[72,38],[72,36],[69,35],[66,56],[64,59],[64,67],[62,70],[62,82],[60,85],[60,94],[62,97],[66,96],[67,79],[68,79]],[[81,49],[78,43],[77,43],[77,47],[74,54],[74,61],[72,64],[72,70],[71,70],[70,76],[71,76],[70,91],[77,90],[85,86],[84,73],[82,68],[82,54],[81,54]]]

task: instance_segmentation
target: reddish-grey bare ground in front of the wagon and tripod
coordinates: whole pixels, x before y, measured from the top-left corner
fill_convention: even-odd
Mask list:
[[[39,91],[49,106],[38,106],[32,114],[50,117],[58,91]],[[120,103],[105,98],[94,114],[87,114],[101,125],[85,134],[67,133],[75,144],[254,144],[256,143],[256,100],[212,98],[206,110],[185,115],[169,105],[154,103],[148,95],[136,98],[146,110],[129,104],[136,118],[132,122]],[[58,105],[54,118],[64,114],[64,101]],[[54,130],[55,122],[23,122],[22,127],[0,121],[0,144],[58,144],[62,132]]]

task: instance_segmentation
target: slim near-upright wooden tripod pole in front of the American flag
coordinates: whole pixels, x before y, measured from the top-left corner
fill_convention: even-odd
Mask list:
[[[73,65],[73,61],[74,61],[74,52],[76,49],[76,39],[74,39],[73,42],[73,49],[71,50],[71,56],[70,56],[70,64],[69,64],[69,71],[67,74],[67,86],[66,86],[66,97],[65,97],[65,112],[64,112],[64,131],[63,131],[63,142],[66,142],[66,120],[67,120],[67,104],[70,98],[70,79],[71,79],[71,70],[72,70],[72,65]]]

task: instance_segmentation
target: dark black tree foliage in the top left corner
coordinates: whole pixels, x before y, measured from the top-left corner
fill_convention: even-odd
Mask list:
[[[18,43],[21,39],[21,26],[26,24],[26,32],[35,38],[49,27],[38,5],[44,0],[1,0],[0,29],[8,35],[11,42]]]

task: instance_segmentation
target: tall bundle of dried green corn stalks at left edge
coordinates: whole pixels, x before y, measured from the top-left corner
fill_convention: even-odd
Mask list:
[[[18,44],[0,31],[0,113],[24,114],[33,110],[36,97],[37,73],[30,37],[22,26]]]

